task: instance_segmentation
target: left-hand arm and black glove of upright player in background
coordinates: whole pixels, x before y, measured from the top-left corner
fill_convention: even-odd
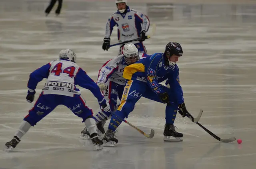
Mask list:
[[[116,22],[114,20],[114,17],[110,16],[108,18],[108,22],[106,23],[106,32],[105,32],[104,42],[103,42],[103,45],[102,45],[102,49],[104,51],[109,49],[110,36],[111,36],[111,33],[112,33],[113,28],[114,28],[115,25],[116,25]]]

